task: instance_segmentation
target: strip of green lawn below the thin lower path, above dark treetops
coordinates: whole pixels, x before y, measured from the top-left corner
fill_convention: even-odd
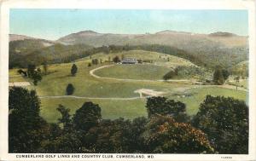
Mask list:
[[[56,111],[59,104],[68,107],[73,114],[85,101],[92,101],[102,108],[102,118],[137,118],[141,116],[147,117],[145,108],[145,100],[131,101],[109,101],[109,100],[87,100],[87,99],[41,99],[42,110],[41,116],[48,122],[56,122],[61,115]]]

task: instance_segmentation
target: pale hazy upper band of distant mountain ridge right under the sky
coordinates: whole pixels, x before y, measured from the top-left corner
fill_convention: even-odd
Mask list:
[[[154,34],[112,34],[83,31],[61,37],[56,42],[63,44],[85,43],[95,47],[102,45],[164,44],[178,49],[246,47],[247,37],[228,32],[196,34],[191,32],[162,31]]]

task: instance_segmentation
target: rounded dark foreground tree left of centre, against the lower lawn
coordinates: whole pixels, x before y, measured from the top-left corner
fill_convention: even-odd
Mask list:
[[[99,124],[102,118],[101,107],[92,102],[84,102],[73,116],[74,128],[88,131],[91,127]]]

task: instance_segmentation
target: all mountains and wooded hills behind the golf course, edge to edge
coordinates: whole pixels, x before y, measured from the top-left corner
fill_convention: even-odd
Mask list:
[[[13,36],[10,35],[10,37]],[[11,41],[9,43],[9,51],[10,55],[15,55],[13,57],[38,54],[44,55],[44,58],[47,57],[52,62],[61,62],[55,60],[59,58],[63,60],[72,55],[79,55],[79,53],[93,47],[128,45],[134,46],[135,49],[150,51],[157,49],[157,52],[162,53],[166,52],[165,49],[170,50],[171,48],[171,50],[182,50],[182,53],[186,55],[185,57],[190,59],[193,57],[195,61],[200,60],[202,66],[214,67],[221,65],[229,67],[248,59],[247,39],[248,37],[238,36],[229,32],[198,34],[166,30],[145,34],[114,34],[82,31],[61,37],[55,42],[35,38]],[[61,44],[61,46],[56,44]],[[81,48],[79,45],[85,46],[83,46],[82,50],[78,50],[76,48]],[[154,45],[157,45],[155,49]],[[52,48],[44,49],[50,46]],[[68,52],[66,52],[67,49]],[[170,54],[172,55],[172,53]],[[15,63],[15,59],[13,62]]]

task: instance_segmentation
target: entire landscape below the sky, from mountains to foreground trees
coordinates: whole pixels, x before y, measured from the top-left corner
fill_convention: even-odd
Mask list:
[[[9,152],[245,154],[248,54],[223,31],[9,34]]]

